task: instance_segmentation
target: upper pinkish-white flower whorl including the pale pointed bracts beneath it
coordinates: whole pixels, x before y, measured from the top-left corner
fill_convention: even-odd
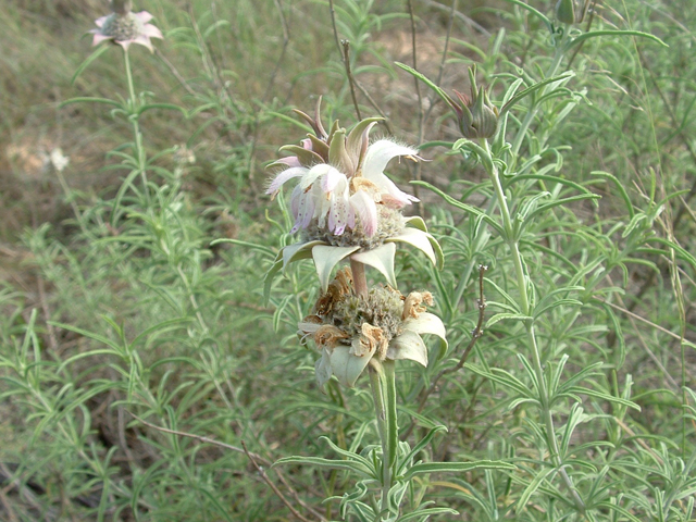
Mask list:
[[[395,243],[408,243],[442,265],[442,249],[423,220],[401,214],[403,207],[418,199],[384,174],[395,158],[418,160],[417,150],[390,139],[370,142],[377,117],[359,122],[350,132],[334,122],[327,132],[319,115],[320,103],[321,99],[314,117],[296,111],[313,134],[301,146],[282,147],[293,156],[271,165],[281,170],[266,194],[274,197],[287,182],[297,181],[289,208],[295,220],[291,233],[300,232],[300,241],[278,253],[266,275],[266,296],[281,269],[310,257],[324,291],[334,266],[347,257],[377,269],[396,287]]]

